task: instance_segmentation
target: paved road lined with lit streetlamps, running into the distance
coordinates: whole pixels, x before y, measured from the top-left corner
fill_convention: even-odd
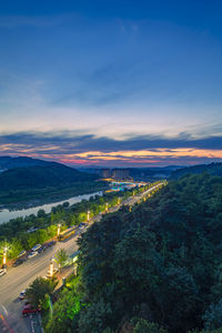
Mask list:
[[[118,211],[121,205],[133,205],[161,184],[151,188],[140,195],[127,199],[120,205],[110,209],[109,212]],[[100,219],[101,215],[98,215],[91,222],[99,221]],[[23,289],[28,287],[37,276],[44,276],[47,274],[50,259],[54,256],[58,250],[65,249],[68,254],[72,254],[78,250],[77,238],[79,233],[80,231],[67,242],[57,242],[54,246],[49,248],[41,254],[26,261],[20,266],[9,268],[7,274],[0,278],[0,332],[41,332],[40,327],[38,327],[37,316],[26,319],[21,316],[23,301],[20,301],[18,295]],[[36,326],[34,331],[33,326]]]

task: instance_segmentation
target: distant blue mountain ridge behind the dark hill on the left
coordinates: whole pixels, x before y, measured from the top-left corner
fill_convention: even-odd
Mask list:
[[[34,167],[34,165],[51,165],[53,162],[47,162],[38,159],[31,159],[27,157],[11,158],[11,157],[0,157],[0,170],[23,168],[23,167]]]

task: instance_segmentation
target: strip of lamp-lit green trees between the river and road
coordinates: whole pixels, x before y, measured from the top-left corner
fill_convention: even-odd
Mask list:
[[[105,206],[115,206],[118,202],[124,201],[133,194],[142,193],[150,185],[125,190],[122,192],[104,193],[102,196],[94,195],[89,200],[72,205],[69,202],[52,208],[50,213],[39,210],[38,214],[26,218],[12,219],[7,223],[0,224],[0,264],[2,262],[3,248],[8,246],[8,259],[17,258],[22,250],[30,250],[33,245],[44,243],[57,235],[58,223],[61,231],[70,226],[87,222],[88,211],[90,218],[104,212]]]

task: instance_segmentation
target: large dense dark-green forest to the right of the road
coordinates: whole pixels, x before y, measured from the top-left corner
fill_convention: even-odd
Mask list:
[[[222,178],[171,181],[79,244],[47,333],[222,332]]]

